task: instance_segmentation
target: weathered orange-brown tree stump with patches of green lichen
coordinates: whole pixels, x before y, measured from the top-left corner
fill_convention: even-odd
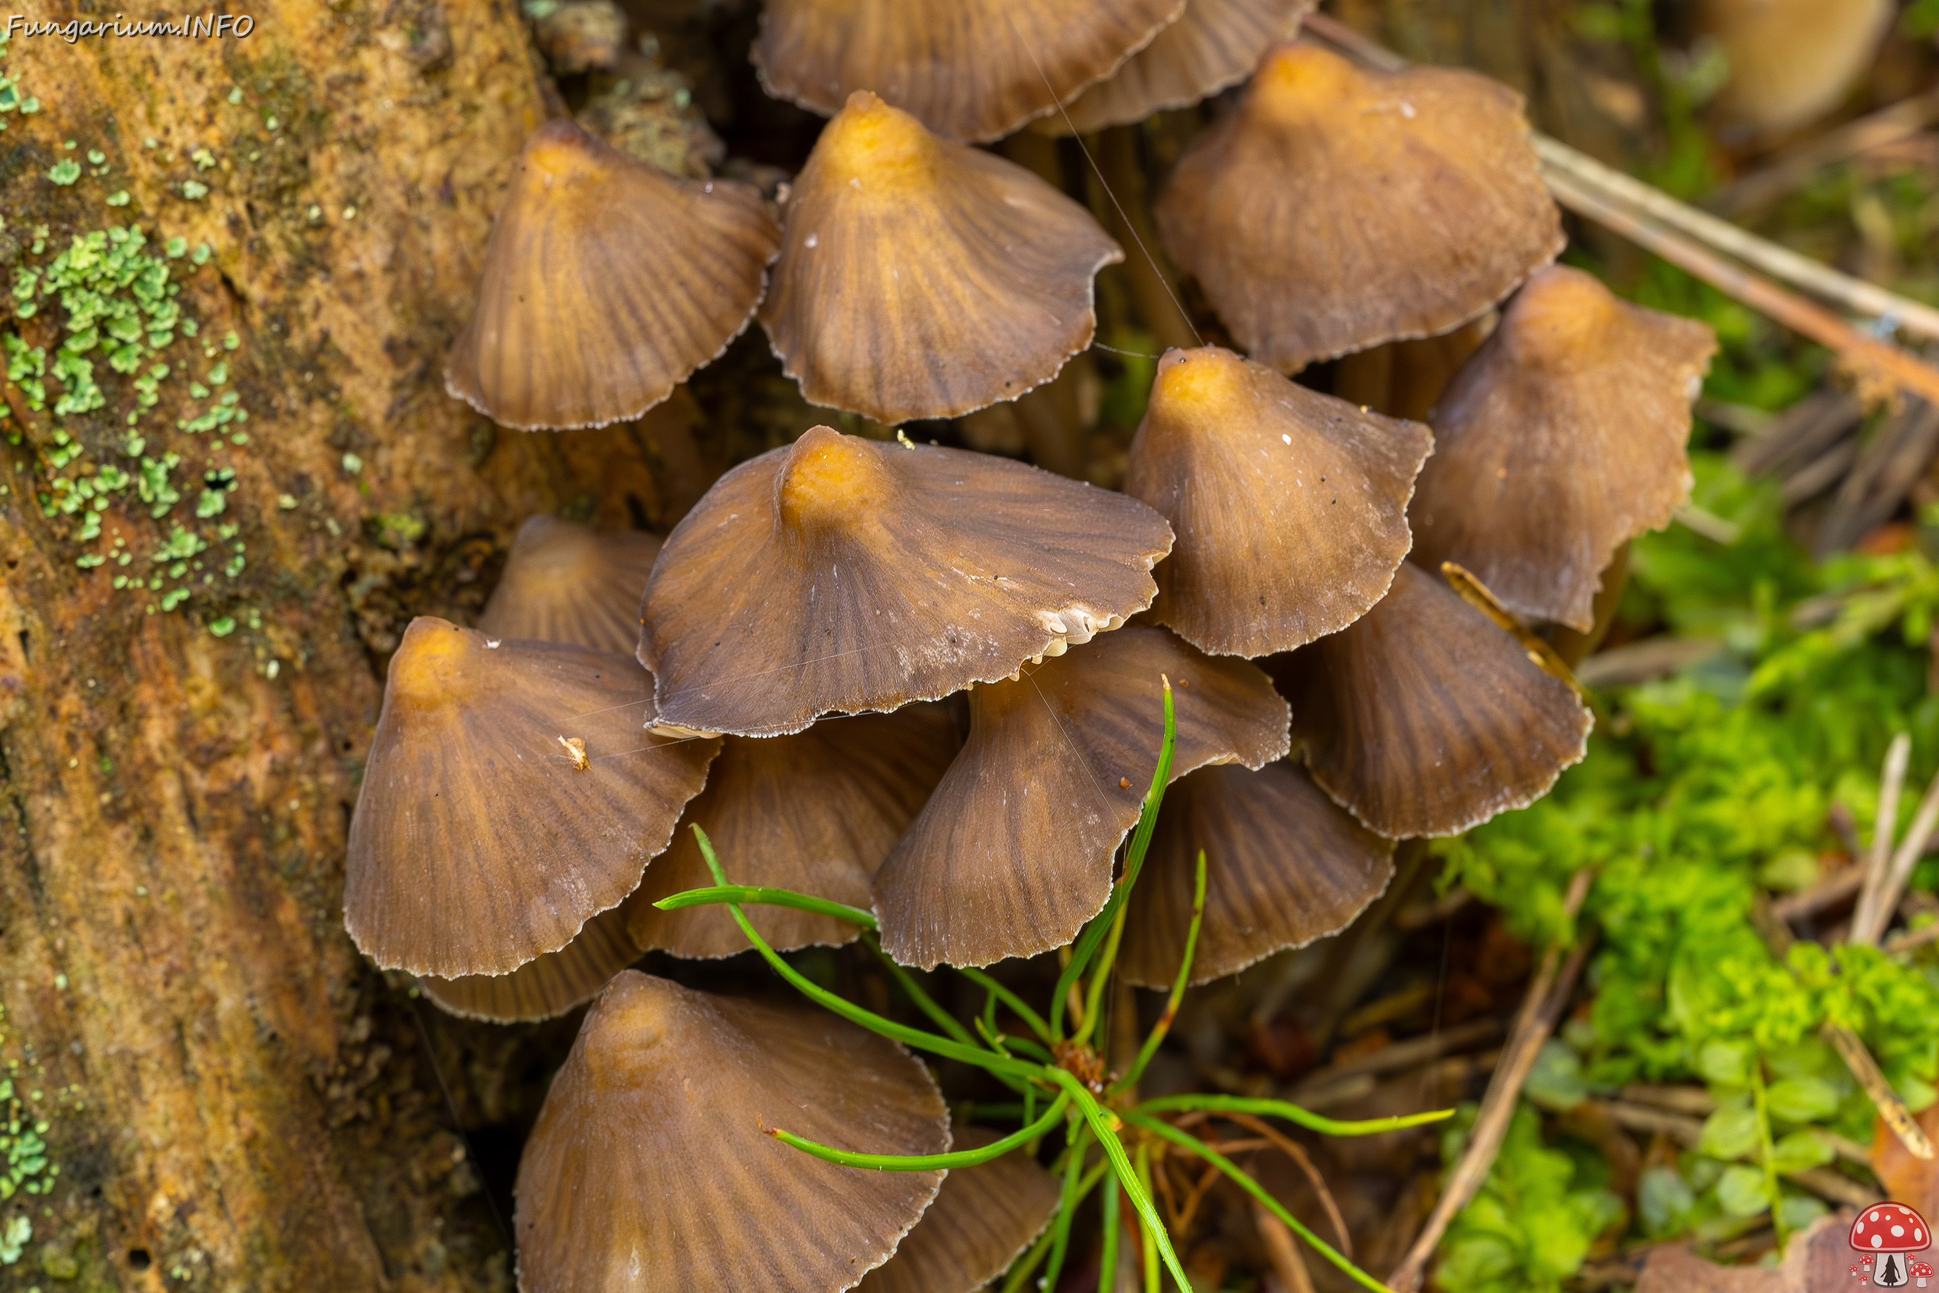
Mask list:
[[[48,1167],[0,1202],[0,1289],[510,1287],[494,1169],[429,1056],[444,1049],[473,1120],[529,1113],[543,1072],[506,1076],[516,1031],[419,1016],[343,932],[380,667],[407,615],[477,609],[527,512],[665,521],[698,492],[681,407],[524,436],[442,390],[512,157],[547,114],[516,4],[287,0],[254,6],[246,39],[16,35],[0,72],[39,101],[0,118],[0,256],[45,264],[109,225],[209,244],[200,269],[171,262],[200,333],[167,357],[142,454],[178,454],[196,489],[235,471],[215,516],[188,485],[161,518],[103,490],[83,539],[37,496],[134,469],[134,388],[97,363],[105,405],[56,417],[4,386],[0,1062],[25,1130],[0,1130],[31,1150],[45,1120]],[[62,161],[76,182],[48,178]],[[54,299],[0,314],[48,353],[62,326]],[[182,386],[215,357],[248,444],[176,425],[207,407]],[[178,578],[149,560],[176,525],[211,543]]]

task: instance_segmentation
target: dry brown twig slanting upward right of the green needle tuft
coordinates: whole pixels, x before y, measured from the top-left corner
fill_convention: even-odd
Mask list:
[[[1584,867],[1574,874],[1574,880],[1569,882],[1563,911],[1571,919],[1582,909],[1582,899],[1588,898],[1590,880],[1594,880],[1594,870]],[[1516,1097],[1522,1093],[1522,1084],[1536,1066],[1536,1055],[1542,1051],[1542,1043],[1547,1041],[1551,1031],[1555,1031],[1555,1022],[1569,1004],[1569,993],[1574,989],[1574,979],[1582,973],[1584,962],[1588,962],[1590,942],[1592,940],[1586,934],[1578,936],[1567,962],[1563,962],[1563,948],[1559,942],[1551,944],[1542,956],[1542,967],[1528,985],[1528,996],[1522,998],[1522,1008],[1514,1018],[1514,1031],[1509,1035],[1509,1045],[1501,1053],[1501,1064],[1495,1068],[1495,1076],[1489,1078],[1487,1095],[1481,1097],[1481,1111],[1476,1115],[1474,1130],[1468,1134],[1468,1148],[1462,1150],[1460,1161],[1454,1165],[1454,1173],[1448,1177],[1446,1188],[1441,1190],[1441,1198],[1435,1200],[1435,1210],[1429,1214],[1427,1225],[1421,1227],[1414,1246],[1408,1248],[1408,1256],[1404,1256],[1400,1266],[1394,1268],[1394,1274],[1386,1277],[1386,1283],[1400,1293],[1414,1293],[1421,1287],[1421,1277],[1427,1274],[1427,1260],[1441,1245],[1441,1237],[1446,1233],[1448,1221],[1454,1219],[1456,1212],[1468,1206],[1468,1200],[1472,1200],[1474,1192],[1481,1188],[1481,1183],[1487,1179],[1487,1171],[1495,1165],[1501,1142],[1509,1134],[1509,1120],[1514,1117]]]

